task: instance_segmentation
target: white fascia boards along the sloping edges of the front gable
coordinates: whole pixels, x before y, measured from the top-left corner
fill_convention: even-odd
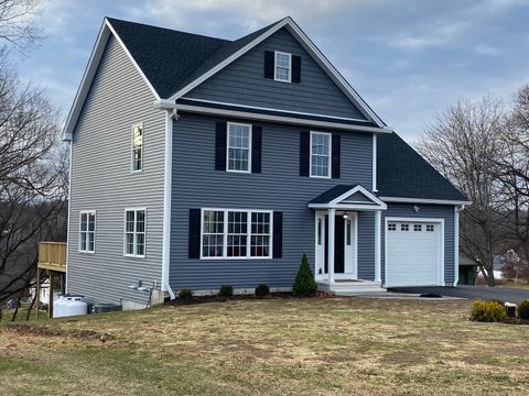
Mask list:
[[[176,101],[179,98],[182,98],[193,88],[204,82],[206,79],[222,70],[224,67],[228,66],[230,63],[246,54],[248,51],[260,44],[262,41],[264,41],[282,28],[287,28],[289,32],[294,35],[299,43],[312,55],[316,63],[331,77],[331,79],[344,91],[347,98],[360,109],[364,116],[366,116],[368,119],[371,119],[379,128],[390,130],[387,125],[384,124],[382,120],[369,108],[369,106],[364,101],[364,99],[361,99],[358,92],[353,89],[353,87],[347,82],[347,80],[338,73],[338,70],[331,64],[331,62],[325,57],[325,55],[323,55],[323,53],[314,45],[314,43],[309,38],[309,36],[300,29],[300,26],[298,26],[298,24],[290,16],[284,18],[281,22],[277,23],[268,31],[263,32],[260,36],[252,40],[242,48],[228,56],[215,67],[203,74],[201,77],[196,78],[195,80],[180,89],[177,92],[172,95],[169,100]]]

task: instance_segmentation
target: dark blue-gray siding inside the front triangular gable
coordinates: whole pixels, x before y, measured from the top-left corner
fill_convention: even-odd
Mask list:
[[[264,51],[301,56],[301,84],[264,78]],[[185,97],[365,120],[285,29],[268,37]]]

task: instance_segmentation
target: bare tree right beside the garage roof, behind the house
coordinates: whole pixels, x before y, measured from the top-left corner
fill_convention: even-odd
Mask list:
[[[493,261],[501,251],[498,230],[505,221],[507,197],[492,174],[500,155],[501,103],[492,97],[460,100],[436,117],[418,145],[419,151],[454,183],[473,205],[461,212],[460,249],[476,260],[489,286],[495,285]]]

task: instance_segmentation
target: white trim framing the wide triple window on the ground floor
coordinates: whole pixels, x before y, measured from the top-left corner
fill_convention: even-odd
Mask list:
[[[222,256],[204,256],[204,212],[205,211],[223,211],[224,212],[224,233],[223,233],[223,255]],[[247,212],[247,249],[246,256],[228,256],[228,212]],[[270,215],[270,249],[268,256],[251,256],[251,213],[269,213]],[[273,258],[273,210],[262,209],[236,209],[236,208],[201,208],[201,260],[271,260]]]

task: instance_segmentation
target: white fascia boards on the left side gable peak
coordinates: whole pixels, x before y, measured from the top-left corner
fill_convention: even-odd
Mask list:
[[[77,123],[77,119],[80,114],[83,106],[85,103],[86,97],[88,96],[88,91],[90,90],[91,81],[97,73],[97,68],[99,66],[99,62],[101,61],[102,54],[107,46],[107,41],[110,34],[114,34],[116,40],[118,41],[121,48],[125,51],[127,56],[129,57],[132,65],[134,65],[136,69],[140,74],[141,78],[145,81],[147,86],[151,90],[152,95],[156,100],[160,100],[160,96],[154,90],[154,87],[145,77],[141,68],[136,63],[134,58],[130,54],[129,50],[125,46],[123,42],[119,37],[119,35],[114,30],[110,22],[105,18],[101,28],[99,29],[99,33],[97,35],[96,43],[94,44],[94,48],[91,50],[90,57],[88,59],[88,64],[85,68],[85,73],[83,74],[83,78],[80,80],[79,87],[77,89],[77,94],[75,95],[74,102],[72,108],[69,109],[68,118],[66,119],[66,123],[63,128],[63,140],[69,141],[72,140],[72,135],[74,132],[75,124]]]

